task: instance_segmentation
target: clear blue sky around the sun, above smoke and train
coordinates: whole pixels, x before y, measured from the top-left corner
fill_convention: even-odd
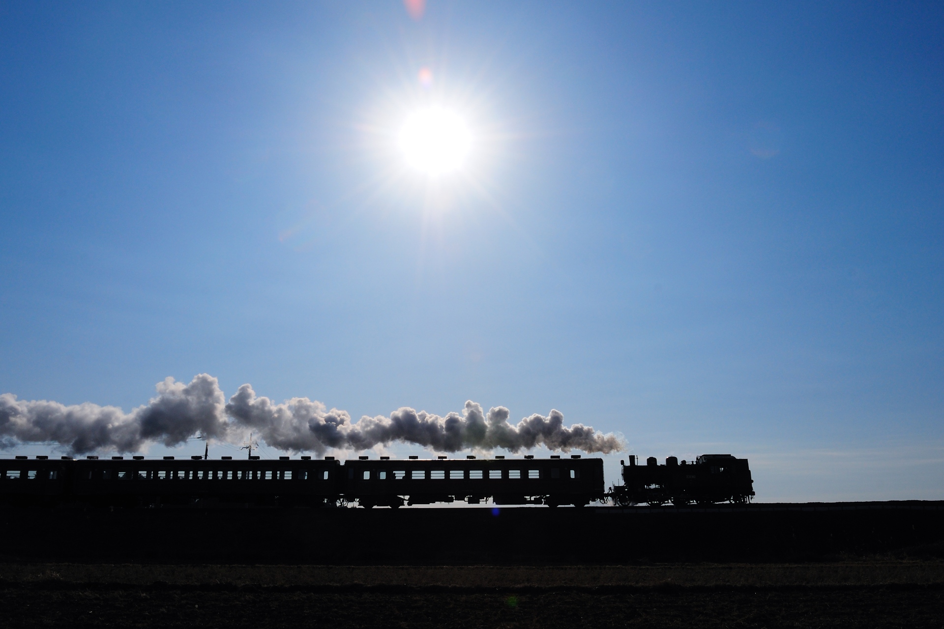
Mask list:
[[[8,3],[0,392],[129,410],[209,372],[355,418],[556,408],[638,455],[749,456],[759,499],[944,498],[941,24]],[[434,184],[390,146],[429,98],[478,140]]]

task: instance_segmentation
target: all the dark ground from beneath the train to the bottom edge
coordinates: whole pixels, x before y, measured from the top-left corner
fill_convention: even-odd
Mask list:
[[[939,627],[944,505],[0,509],[2,627]]]

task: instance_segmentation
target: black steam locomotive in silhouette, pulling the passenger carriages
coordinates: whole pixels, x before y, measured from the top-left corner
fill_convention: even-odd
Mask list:
[[[620,461],[623,485],[611,488],[616,505],[683,506],[696,503],[712,505],[731,502],[743,505],[754,496],[754,481],[750,478],[748,459],[732,455],[700,455],[691,463],[679,462],[675,456],[659,465],[654,456],[646,465],[636,465],[630,455],[630,464]]]

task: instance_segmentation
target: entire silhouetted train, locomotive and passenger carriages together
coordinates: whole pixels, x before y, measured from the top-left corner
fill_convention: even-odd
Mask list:
[[[622,464],[622,461],[620,462]],[[164,456],[16,456],[0,459],[0,502],[12,505],[259,505],[363,507],[465,502],[478,505],[743,503],[753,496],[747,459],[702,455],[666,465],[621,465],[623,485],[606,491],[603,459],[550,456],[480,459],[359,456],[189,459]]]

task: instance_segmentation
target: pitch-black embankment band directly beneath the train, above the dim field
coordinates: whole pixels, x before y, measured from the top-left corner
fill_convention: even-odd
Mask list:
[[[0,561],[586,565],[822,561],[944,542],[944,502],[0,508]]]

